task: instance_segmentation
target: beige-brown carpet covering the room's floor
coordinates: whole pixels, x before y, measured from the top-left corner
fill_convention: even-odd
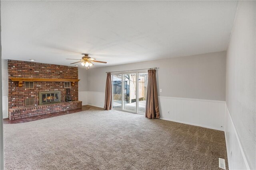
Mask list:
[[[96,108],[5,124],[4,145],[6,170],[217,170],[227,160],[224,132]]]

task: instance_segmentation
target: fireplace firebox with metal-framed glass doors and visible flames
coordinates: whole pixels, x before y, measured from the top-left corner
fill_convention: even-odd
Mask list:
[[[58,103],[60,99],[60,91],[39,92],[39,105]]]

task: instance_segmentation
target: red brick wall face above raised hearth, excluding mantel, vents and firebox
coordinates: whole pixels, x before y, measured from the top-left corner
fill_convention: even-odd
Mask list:
[[[8,76],[18,78],[65,78],[78,79],[78,68],[71,66],[61,66],[55,64],[42,64],[26,61],[8,60]],[[25,89],[24,82],[22,87],[18,87],[18,82],[8,81],[8,107],[18,108],[25,106],[26,98],[34,98],[35,105],[39,104],[39,92],[41,91],[61,91],[61,102],[64,102],[66,89],[64,82],[34,82],[34,89]],[[78,82],[71,86],[72,101],[78,100]]]

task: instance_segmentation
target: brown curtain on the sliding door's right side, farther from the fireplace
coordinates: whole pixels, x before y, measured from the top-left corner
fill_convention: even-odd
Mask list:
[[[156,70],[148,70],[148,91],[145,116],[149,119],[160,118],[156,86]]]

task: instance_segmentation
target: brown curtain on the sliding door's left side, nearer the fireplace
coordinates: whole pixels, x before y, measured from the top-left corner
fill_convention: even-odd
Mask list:
[[[112,84],[111,84],[111,73],[108,73],[107,80],[106,80],[104,110],[111,110],[111,109],[112,109]]]

